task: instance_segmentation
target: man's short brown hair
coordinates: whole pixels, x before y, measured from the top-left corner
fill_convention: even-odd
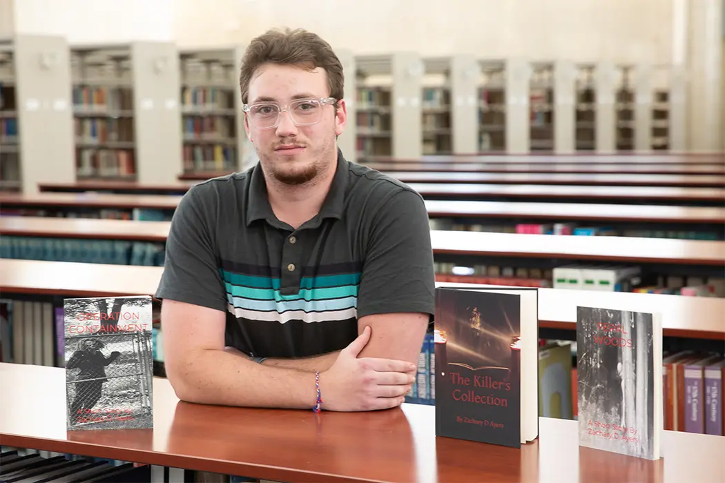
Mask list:
[[[327,72],[330,97],[339,101],[344,96],[342,64],[329,43],[301,28],[272,29],[252,39],[241,59],[239,87],[244,104],[249,101],[249,83],[254,71],[268,62],[299,65],[310,70],[320,67]]]

